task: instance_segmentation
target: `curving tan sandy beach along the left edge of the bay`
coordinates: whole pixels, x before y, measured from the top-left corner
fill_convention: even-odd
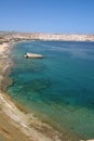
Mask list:
[[[58,132],[42,123],[3,92],[12,84],[8,77],[13,65],[10,43],[0,44],[0,139],[2,141],[79,141],[67,132]]]

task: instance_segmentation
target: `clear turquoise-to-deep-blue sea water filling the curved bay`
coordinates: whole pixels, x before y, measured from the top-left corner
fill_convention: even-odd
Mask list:
[[[27,52],[45,57],[24,59]],[[94,42],[22,42],[11,57],[13,99],[59,130],[94,139]]]

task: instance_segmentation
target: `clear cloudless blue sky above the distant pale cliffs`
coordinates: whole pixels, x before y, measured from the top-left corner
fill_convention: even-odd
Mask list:
[[[94,0],[0,0],[0,30],[94,35]]]

